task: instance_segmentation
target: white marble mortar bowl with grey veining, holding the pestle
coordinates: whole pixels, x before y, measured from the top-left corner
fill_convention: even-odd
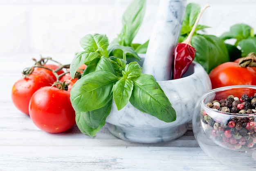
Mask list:
[[[184,135],[198,98],[211,90],[209,76],[200,64],[193,62],[183,78],[158,83],[176,111],[176,120],[166,123],[139,111],[130,103],[118,111],[113,102],[110,115],[106,118],[113,135],[139,143],[165,142]]]

